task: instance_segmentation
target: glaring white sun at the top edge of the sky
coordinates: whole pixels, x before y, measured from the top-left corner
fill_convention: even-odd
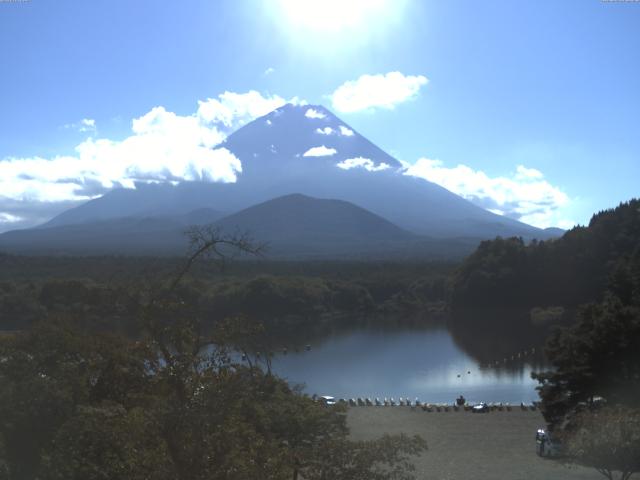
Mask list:
[[[281,13],[294,29],[316,32],[367,30],[384,20],[396,0],[280,0]]]

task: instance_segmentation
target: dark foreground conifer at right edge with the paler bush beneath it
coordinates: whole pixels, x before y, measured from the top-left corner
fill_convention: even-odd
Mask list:
[[[554,370],[534,374],[542,413],[571,461],[609,479],[640,469],[640,277],[637,255],[599,305],[547,342]],[[619,293],[624,295],[619,295]]]

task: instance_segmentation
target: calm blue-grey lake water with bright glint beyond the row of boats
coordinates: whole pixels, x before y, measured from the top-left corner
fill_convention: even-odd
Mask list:
[[[537,400],[532,367],[483,368],[442,329],[356,331],[277,355],[273,370],[306,391],[335,397],[418,397],[428,402]],[[470,373],[467,373],[470,372]],[[460,375],[458,377],[458,375]]]

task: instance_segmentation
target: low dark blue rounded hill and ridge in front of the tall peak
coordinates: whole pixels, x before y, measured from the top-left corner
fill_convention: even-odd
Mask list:
[[[0,235],[0,248],[39,255],[180,255],[189,222],[248,232],[271,259],[461,259],[479,238],[412,234],[352,203],[287,195],[232,215],[199,209],[184,215],[117,218]]]

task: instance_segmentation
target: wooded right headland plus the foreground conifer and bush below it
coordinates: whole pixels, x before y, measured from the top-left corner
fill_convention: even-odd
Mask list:
[[[544,332],[549,365],[533,377],[567,461],[609,479],[640,471],[640,200],[557,240],[483,242],[450,288],[454,331],[476,342]]]

